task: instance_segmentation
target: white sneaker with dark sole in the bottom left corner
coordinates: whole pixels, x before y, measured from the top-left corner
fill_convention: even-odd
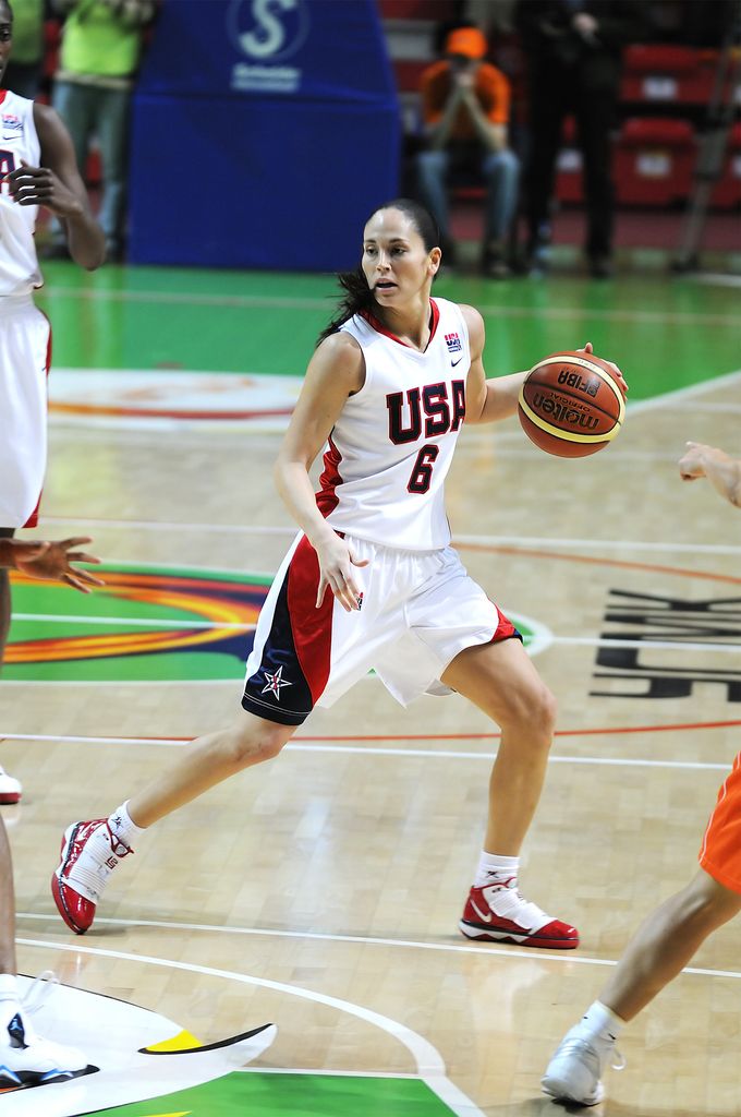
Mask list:
[[[0,1002],[0,1092],[64,1081],[86,1070],[80,1051],[37,1035],[17,1001]]]

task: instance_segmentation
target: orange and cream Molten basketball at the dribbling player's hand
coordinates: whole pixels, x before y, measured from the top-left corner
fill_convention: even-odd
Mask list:
[[[554,353],[526,376],[518,416],[541,450],[585,458],[618,435],[625,400],[607,361],[594,353]]]

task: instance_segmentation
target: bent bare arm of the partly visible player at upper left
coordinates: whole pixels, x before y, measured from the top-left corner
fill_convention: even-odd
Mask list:
[[[80,267],[94,271],[105,259],[103,230],[90,212],[73,142],[57,113],[33,105],[33,122],[41,144],[41,166],[26,163],[8,175],[19,206],[46,206],[65,227],[69,254]]]

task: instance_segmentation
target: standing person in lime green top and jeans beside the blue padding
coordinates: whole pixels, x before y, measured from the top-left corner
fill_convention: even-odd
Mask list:
[[[143,32],[155,15],[154,0],[52,0],[65,17],[52,104],[69,130],[77,163],[85,168],[97,136],[103,169],[100,225],[106,258],[125,255],[128,120]],[[51,256],[66,256],[52,222]]]

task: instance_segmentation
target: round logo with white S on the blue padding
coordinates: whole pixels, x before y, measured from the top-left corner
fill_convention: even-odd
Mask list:
[[[232,0],[227,29],[237,49],[253,61],[285,61],[306,41],[306,0]]]

